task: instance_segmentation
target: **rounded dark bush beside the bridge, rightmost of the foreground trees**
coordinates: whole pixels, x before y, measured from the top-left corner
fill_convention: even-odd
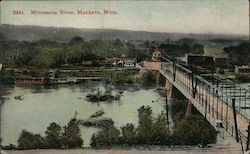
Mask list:
[[[202,147],[216,141],[216,131],[204,119],[198,115],[192,115],[183,119],[175,130],[176,139],[183,145],[197,145]]]

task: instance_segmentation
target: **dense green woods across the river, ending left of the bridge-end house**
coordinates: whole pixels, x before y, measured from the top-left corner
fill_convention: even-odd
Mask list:
[[[85,41],[76,36],[68,43],[40,40],[36,42],[11,41],[1,37],[0,46],[4,66],[59,67],[62,64],[81,64],[88,60],[112,57],[134,57],[138,61],[151,57],[152,51],[119,39]]]

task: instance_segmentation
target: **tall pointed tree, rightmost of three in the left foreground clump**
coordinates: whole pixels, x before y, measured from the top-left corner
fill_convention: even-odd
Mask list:
[[[81,139],[80,128],[78,121],[73,118],[64,126],[64,133],[62,135],[62,144],[64,148],[80,148],[83,144]]]

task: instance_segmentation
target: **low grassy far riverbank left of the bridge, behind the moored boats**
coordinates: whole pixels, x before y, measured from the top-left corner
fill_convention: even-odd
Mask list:
[[[112,83],[133,83],[136,82],[134,77],[139,72],[136,67],[81,67],[81,68],[57,68],[57,69],[6,69],[1,72],[2,84],[15,84],[16,81],[41,79],[51,80],[48,83],[68,83],[69,79],[76,79],[77,82],[86,80],[106,80]],[[51,74],[53,77],[51,78]],[[54,82],[54,81],[65,82]],[[18,82],[18,83],[19,83]],[[26,83],[26,82],[25,82]],[[32,82],[29,82],[32,84]],[[45,83],[45,82],[43,82]]]

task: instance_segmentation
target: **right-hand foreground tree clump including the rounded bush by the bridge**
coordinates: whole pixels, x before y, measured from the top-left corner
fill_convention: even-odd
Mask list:
[[[91,138],[91,147],[102,149],[131,146],[198,145],[205,147],[215,143],[216,131],[200,115],[182,119],[173,132],[170,131],[166,113],[152,116],[150,106],[138,109],[138,126],[128,123],[119,129],[114,125],[104,127]]]

